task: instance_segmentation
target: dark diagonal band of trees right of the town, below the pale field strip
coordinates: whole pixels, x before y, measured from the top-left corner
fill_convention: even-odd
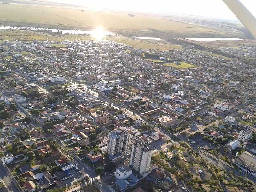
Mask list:
[[[236,58],[236,55],[227,53],[227,52],[223,52],[220,51],[218,49],[214,49],[214,48],[210,48],[210,47],[205,47],[203,45],[199,45],[196,43],[192,43],[192,42],[188,42],[188,41],[184,41],[181,39],[167,39],[168,42],[174,43],[174,44],[178,44],[181,45],[183,47],[188,47],[188,46],[193,46],[195,49],[201,50],[201,51],[209,51],[218,55],[222,55],[224,57],[229,57],[229,58]]]

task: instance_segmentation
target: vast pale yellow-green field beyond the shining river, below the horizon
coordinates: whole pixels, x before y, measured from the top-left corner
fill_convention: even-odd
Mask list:
[[[84,28],[103,26],[106,29],[117,30],[148,30],[150,28],[161,31],[223,33],[212,28],[172,21],[166,17],[136,15],[135,18],[132,18],[121,12],[89,10],[82,12],[80,9],[72,9],[72,7],[1,5],[0,20]]]

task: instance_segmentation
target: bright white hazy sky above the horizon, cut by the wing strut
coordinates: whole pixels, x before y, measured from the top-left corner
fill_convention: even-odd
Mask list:
[[[46,0],[89,8],[236,19],[222,0]],[[256,16],[256,0],[240,0]]]

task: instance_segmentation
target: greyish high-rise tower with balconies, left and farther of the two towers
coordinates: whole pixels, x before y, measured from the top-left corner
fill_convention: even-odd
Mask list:
[[[116,156],[125,152],[128,144],[128,132],[117,129],[108,133],[107,152],[109,156]]]

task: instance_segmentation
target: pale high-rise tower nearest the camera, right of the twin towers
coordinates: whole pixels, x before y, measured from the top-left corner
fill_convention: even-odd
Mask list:
[[[143,177],[148,175],[153,149],[143,142],[132,144],[129,165]]]

